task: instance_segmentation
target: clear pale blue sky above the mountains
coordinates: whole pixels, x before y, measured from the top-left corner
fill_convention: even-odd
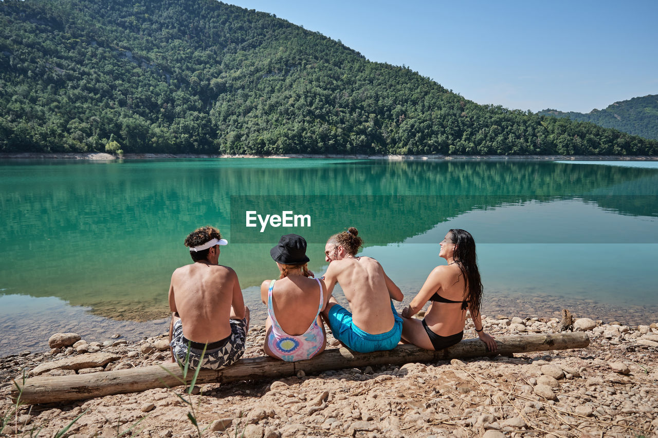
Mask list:
[[[224,0],[477,103],[590,112],[658,94],[658,0]]]

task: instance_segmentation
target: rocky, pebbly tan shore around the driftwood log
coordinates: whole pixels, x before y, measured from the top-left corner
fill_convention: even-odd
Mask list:
[[[553,333],[557,318],[484,318],[493,335]],[[143,437],[658,437],[658,326],[576,319],[586,349],[432,364],[367,366],[275,381],[205,384],[89,399],[66,406],[20,406],[11,379],[161,364],[166,333],[130,343],[50,339],[47,353],[0,360],[0,433]],[[472,324],[465,338],[475,337]],[[253,326],[245,357],[263,355]],[[331,335],[330,344],[336,344]],[[45,345],[44,345],[45,347]],[[182,398],[179,397],[182,395]],[[190,402],[191,404],[188,404]],[[193,425],[188,412],[199,426]]]

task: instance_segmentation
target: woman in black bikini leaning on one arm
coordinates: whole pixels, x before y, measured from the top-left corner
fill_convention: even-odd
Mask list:
[[[461,341],[466,310],[489,351],[497,349],[493,336],[484,333],[480,318],[482,282],[475,258],[475,241],[468,231],[453,229],[440,243],[439,256],[447,266],[430,272],[418,295],[402,310],[402,339],[427,350],[441,350]],[[412,318],[427,303],[425,318]]]

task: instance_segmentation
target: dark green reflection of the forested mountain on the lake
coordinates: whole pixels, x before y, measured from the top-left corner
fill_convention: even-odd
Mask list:
[[[277,211],[312,212],[324,225],[305,230],[309,241],[357,226],[367,245],[385,245],[464,212],[533,200],[583,199],[655,217],[657,183],[653,169],[504,160],[12,164],[0,175],[0,288],[92,305],[104,316],[148,318],[166,310],[170,273],[190,260],[182,247],[190,230],[240,230],[231,222],[232,195],[269,195]],[[243,287],[274,275],[267,250],[284,232],[223,250]],[[324,265],[322,245],[311,258],[311,269]]]

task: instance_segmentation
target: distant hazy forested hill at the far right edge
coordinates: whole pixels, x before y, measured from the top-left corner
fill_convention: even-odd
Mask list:
[[[545,109],[538,114],[592,122],[604,128],[615,128],[628,134],[658,140],[658,94],[615,102],[604,110],[595,109],[587,114],[553,109]]]

